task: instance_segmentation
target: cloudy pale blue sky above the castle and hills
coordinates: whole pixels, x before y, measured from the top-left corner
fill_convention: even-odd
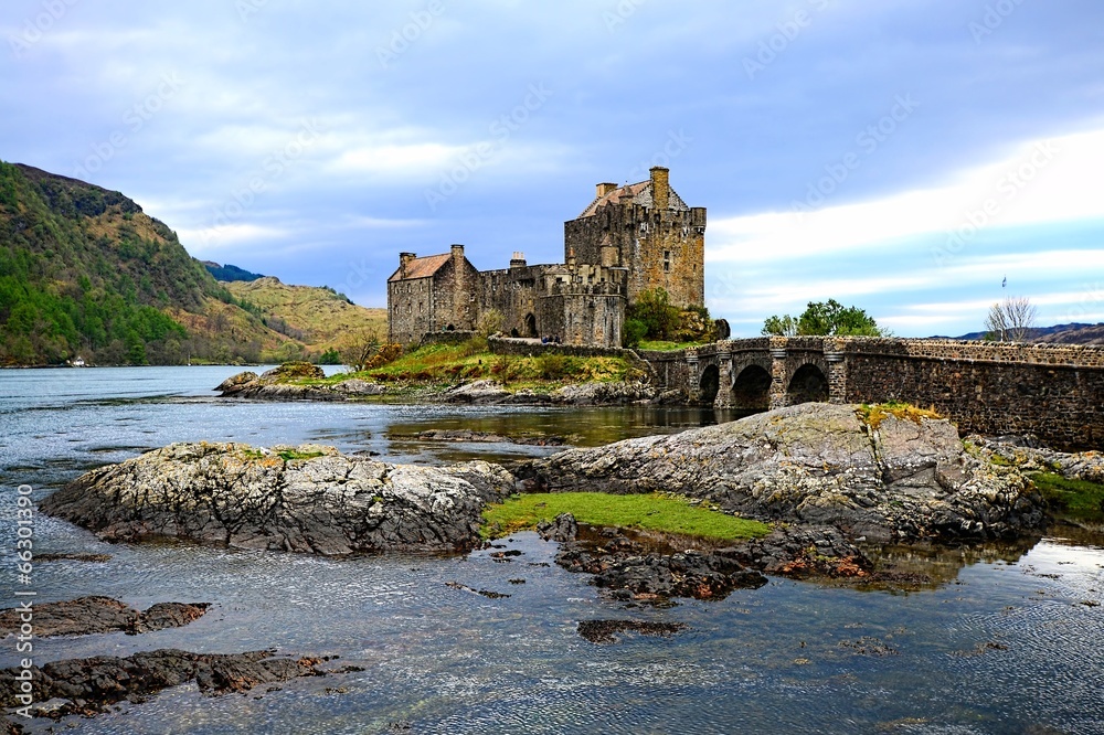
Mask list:
[[[192,255],[385,305],[401,251],[563,256],[599,181],[705,206],[740,335],[1104,321],[1098,0],[7,0],[0,159]],[[1007,287],[1001,288],[1007,277]]]

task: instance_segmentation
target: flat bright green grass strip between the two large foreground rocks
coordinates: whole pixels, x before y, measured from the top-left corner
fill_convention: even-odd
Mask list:
[[[560,513],[572,513],[580,523],[613,525],[677,533],[703,539],[754,539],[769,533],[771,528],[758,521],[728,515],[701,505],[691,505],[683,498],[659,493],[612,496],[603,492],[554,492],[514,496],[484,511],[485,536],[509,535],[537,528],[542,520],[551,521]]]

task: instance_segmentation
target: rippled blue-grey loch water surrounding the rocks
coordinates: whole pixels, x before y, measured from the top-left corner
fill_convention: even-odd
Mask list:
[[[0,372],[0,607],[15,605],[18,486],[41,500],[86,469],[171,441],[312,441],[386,461],[507,460],[555,448],[417,434],[540,432],[597,445],[728,418],[216,398],[212,386],[233,372]],[[106,544],[40,514],[36,552],[110,561],[35,565],[36,601],[107,595],[139,608],[213,607],[176,630],[40,640],[34,657],[41,664],[170,647],[276,648],[363,668],[244,696],[185,685],[59,727],[75,733],[1104,733],[1104,537],[1061,526],[1051,534],[932,554],[887,550],[937,579],[919,592],[772,578],[724,600],[652,608],[604,599],[585,576],[552,564],[555,545],[531,533],[503,542],[521,552],[509,562],[492,550],[325,558]],[[609,618],[686,629],[624,633],[612,645],[578,636],[581,620]],[[0,668],[19,658],[12,639],[0,640]]]

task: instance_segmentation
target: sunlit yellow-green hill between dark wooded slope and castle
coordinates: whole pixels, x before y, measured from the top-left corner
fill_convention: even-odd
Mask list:
[[[222,284],[270,329],[298,340],[308,352],[348,345],[364,332],[388,333],[388,310],[367,309],[331,288],[288,286],[278,278]]]

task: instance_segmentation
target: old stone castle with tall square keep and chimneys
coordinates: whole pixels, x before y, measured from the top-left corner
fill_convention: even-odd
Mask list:
[[[426,333],[471,330],[490,311],[513,337],[565,344],[620,347],[625,309],[646,290],[662,288],[672,305],[704,306],[705,209],[688,206],[668,170],[618,187],[599,183],[594,201],[564,223],[564,263],[478,270],[463,245],[417,257],[401,253],[388,279],[392,342]]]

